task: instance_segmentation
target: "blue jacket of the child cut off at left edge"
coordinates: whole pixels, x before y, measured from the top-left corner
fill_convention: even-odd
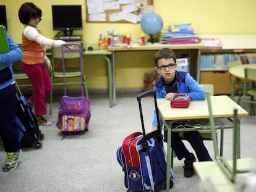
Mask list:
[[[6,28],[4,28],[6,30]],[[9,43],[10,51],[6,54],[0,54],[0,90],[14,83],[14,71],[12,70],[12,62],[22,59],[22,51],[20,47],[12,40],[6,33],[7,41]]]

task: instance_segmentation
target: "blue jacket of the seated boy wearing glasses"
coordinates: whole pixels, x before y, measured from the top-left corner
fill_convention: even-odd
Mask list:
[[[206,99],[206,93],[203,90],[202,86],[194,80],[193,77],[187,72],[175,72],[176,77],[176,85],[177,85],[177,93],[189,93],[191,96],[191,100],[204,100]],[[164,80],[163,77],[160,77],[159,80],[156,81],[153,89],[156,90],[156,98],[165,98],[166,90],[164,88]],[[170,106],[171,107],[171,106]],[[156,112],[154,112],[154,118],[152,122],[153,126],[157,126],[156,120]]]

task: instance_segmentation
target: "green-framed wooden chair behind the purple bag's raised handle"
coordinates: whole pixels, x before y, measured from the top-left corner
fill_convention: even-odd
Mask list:
[[[69,49],[67,46],[74,46],[74,49]],[[56,59],[61,59],[62,65],[56,67]],[[72,67],[68,66],[66,60],[70,59],[72,61]],[[77,62],[77,60],[79,60]],[[52,48],[51,64],[53,66],[53,72],[51,73],[51,80],[53,86],[64,85],[81,85],[83,86],[83,91],[85,91],[85,96],[89,98],[87,90],[87,82],[85,78],[85,73],[83,70],[83,55],[82,55],[82,44],[81,43],[66,43],[62,44],[60,48]],[[66,78],[64,78],[64,75]],[[79,77],[79,80],[77,78]],[[61,78],[62,81],[56,81],[57,78]],[[66,80],[69,78],[69,80]],[[64,79],[64,81],[63,81]],[[53,90],[50,93],[50,109],[49,114],[52,113],[53,105]]]

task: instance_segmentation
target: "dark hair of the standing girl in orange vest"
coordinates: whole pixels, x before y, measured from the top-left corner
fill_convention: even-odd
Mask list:
[[[19,9],[20,23],[27,25],[31,19],[42,17],[42,10],[33,4],[33,2],[25,2]]]

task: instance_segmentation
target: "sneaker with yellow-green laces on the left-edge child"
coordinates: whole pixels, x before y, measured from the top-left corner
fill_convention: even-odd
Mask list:
[[[6,161],[2,165],[2,170],[4,172],[9,172],[10,170],[14,170],[17,167],[21,152],[21,149],[19,152],[6,152]]]

